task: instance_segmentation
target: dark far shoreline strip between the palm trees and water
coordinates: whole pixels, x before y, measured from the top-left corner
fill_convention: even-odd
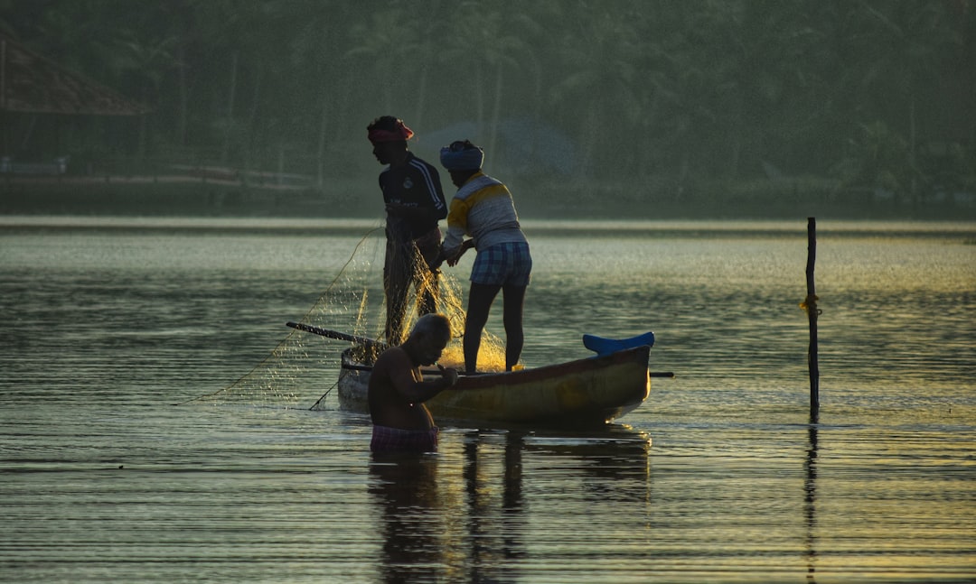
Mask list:
[[[382,217],[379,192],[366,180],[330,181],[319,189],[294,184],[246,184],[194,176],[5,176],[0,177],[0,215],[119,215],[200,217]],[[596,187],[594,187],[595,189]],[[523,220],[770,220],[816,216],[844,220],[976,220],[976,205],[950,202],[909,205],[864,200],[803,200],[767,197],[743,200],[674,201],[647,193],[559,197],[557,187],[513,188]],[[449,190],[445,198],[453,194]]]

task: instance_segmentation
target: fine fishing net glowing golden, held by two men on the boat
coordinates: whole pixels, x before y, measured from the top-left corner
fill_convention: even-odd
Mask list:
[[[352,250],[318,300],[298,323],[348,336],[383,340],[386,328],[386,299],[383,289],[386,234],[383,227],[369,231]],[[411,260],[416,273],[425,277],[411,289],[403,307],[403,330],[410,331],[417,320],[419,299],[434,286],[433,273],[419,253]],[[459,276],[465,277],[460,280]],[[439,276],[437,311],[451,321],[453,339],[444,349],[440,364],[464,369],[461,337],[465,331],[463,289],[467,275],[462,270],[444,271]],[[261,405],[284,408],[331,409],[327,398],[336,387],[343,351],[354,343],[307,331],[290,329],[278,345],[253,370],[223,389],[191,400],[213,404]],[[504,370],[505,347],[501,339],[485,330],[478,353],[478,370]],[[319,397],[321,396],[321,397]]]

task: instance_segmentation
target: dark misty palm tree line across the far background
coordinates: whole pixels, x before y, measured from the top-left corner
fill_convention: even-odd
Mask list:
[[[976,189],[969,0],[0,0],[0,31],[154,108],[71,122],[78,157],[321,184],[375,173],[364,129],[392,113],[430,151],[453,125],[489,152],[513,121],[530,152],[565,136],[569,170],[506,169],[540,180]]]

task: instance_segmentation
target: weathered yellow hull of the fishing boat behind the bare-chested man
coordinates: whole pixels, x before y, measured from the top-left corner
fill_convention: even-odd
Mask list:
[[[342,409],[369,411],[371,353],[363,345],[343,352]],[[602,425],[647,399],[649,353],[650,346],[640,345],[547,367],[462,375],[454,388],[428,401],[427,408],[437,420],[534,427]]]

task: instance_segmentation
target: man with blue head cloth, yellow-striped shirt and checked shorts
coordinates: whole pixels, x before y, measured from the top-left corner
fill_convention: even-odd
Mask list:
[[[465,369],[477,370],[481,332],[499,291],[504,299],[505,367],[512,370],[522,354],[522,308],[532,273],[529,244],[518,223],[508,187],[481,172],[484,150],[468,140],[440,150],[440,163],[451,174],[458,192],[447,214],[447,235],[440,256],[448,265],[474,248],[468,317],[465,322]],[[468,236],[470,239],[465,239]]]

